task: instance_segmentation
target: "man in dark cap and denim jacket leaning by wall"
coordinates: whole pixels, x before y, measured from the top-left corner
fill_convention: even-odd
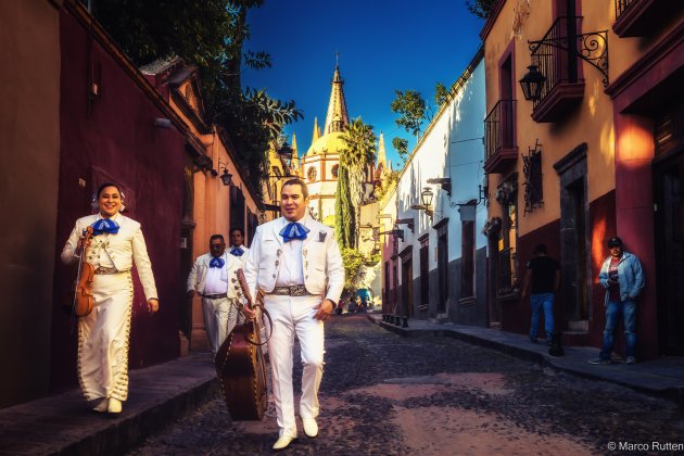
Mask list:
[[[622,316],[626,364],[636,363],[636,299],[644,289],[645,279],[638,258],[622,250],[622,239],[608,239],[610,256],[598,274],[600,286],[606,289],[606,329],[604,346],[591,364],[610,364],[615,332]]]

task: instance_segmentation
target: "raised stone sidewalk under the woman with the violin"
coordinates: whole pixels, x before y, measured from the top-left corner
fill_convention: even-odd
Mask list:
[[[92,411],[78,389],[0,409],[0,455],[122,454],[219,394],[208,353],[131,370],[129,384],[118,416]]]

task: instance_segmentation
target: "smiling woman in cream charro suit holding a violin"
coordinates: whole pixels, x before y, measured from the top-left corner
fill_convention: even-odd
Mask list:
[[[78,381],[86,400],[98,401],[93,410],[110,414],[121,413],[128,396],[134,262],[149,312],[154,314],[160,306],[140,224],[119,214],[123,199],[115,183],[100,186],[99,213],[76,220],[62,251],[65,264],[84,262],[76,296]]]

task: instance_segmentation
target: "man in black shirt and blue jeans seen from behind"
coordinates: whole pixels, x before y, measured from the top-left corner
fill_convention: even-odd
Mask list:
[[[560,267],[558,262],[546,255],[546,245],[534,248],[534,257],[528,262],[522,286],[522,300],[530,295],[532,321],[530,322],[530,341],[536,343],[540,316],[544,311],[544,330],[546,343],[550,345],[554,334],[554,300],[560,286]],[[532,292],[530,293],[530,287]]]

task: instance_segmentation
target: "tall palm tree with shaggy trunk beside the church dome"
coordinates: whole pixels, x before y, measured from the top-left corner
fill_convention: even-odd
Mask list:
[[[376,156],[376,134],[372,126],[364,124],[360,117],[352,122],[342,136],[346,148],[340,153],[340,165],[345,167],[349,177],[349,188],[352,205],[354,206],[355,244],[358,243],[358,226],[360,204],[366,193],[365,180],[368,165]]]

